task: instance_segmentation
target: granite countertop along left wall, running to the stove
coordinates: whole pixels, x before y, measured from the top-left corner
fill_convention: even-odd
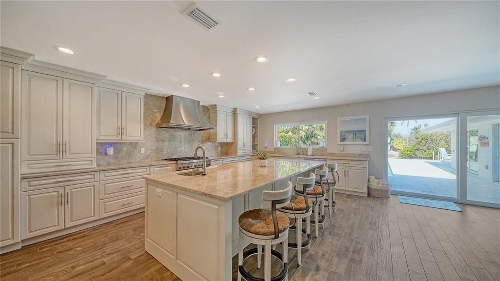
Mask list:
[[[74,169],[74,170],[24,173],[24,174],[21,174],[21,178],[32,178],[32,177],[38,177],[38,176],[51,176],[51,175],[62,175],[62,174],[71,174],[71,173],[80,173],[80,172],[92,172],[92,171],[101,171],[101,170],[134,168],[134,167],[164,165],[164,164],[173,164],[173,163],[175,163],[175,162],[174,161],[166,161],[166,160],[146,160],[146,161],[119,163],[119,164],[98,165],[95,168],[88,168],[88,169]]]

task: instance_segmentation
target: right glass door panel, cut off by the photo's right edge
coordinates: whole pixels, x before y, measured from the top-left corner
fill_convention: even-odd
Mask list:
[[[460,201],[500,207],[500,110],[460,114],[464,135]]]

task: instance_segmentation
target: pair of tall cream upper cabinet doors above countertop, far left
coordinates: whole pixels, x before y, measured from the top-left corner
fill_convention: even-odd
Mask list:
[[[22,70],[21,160],[95,157],[95,86]]]

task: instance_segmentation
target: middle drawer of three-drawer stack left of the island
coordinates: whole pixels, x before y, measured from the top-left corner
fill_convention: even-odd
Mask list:
[[[146,181],[140,176],[125,179],[111,179],[99,182],[99,199],[107,199],[120,195],[144,191]]]

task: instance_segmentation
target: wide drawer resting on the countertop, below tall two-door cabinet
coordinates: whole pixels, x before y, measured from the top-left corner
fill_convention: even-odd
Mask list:
[[[95,158],[21,161],[21,173],[95,168]]]

